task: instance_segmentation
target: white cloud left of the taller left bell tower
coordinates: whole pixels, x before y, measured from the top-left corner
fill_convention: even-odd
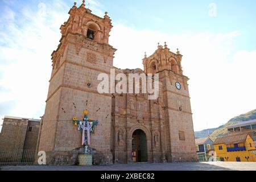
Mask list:
[[[59,44],[59,27],[68,19],[67,5],[60,2],[51,5],[39,3],[34,9],[22,9],[24,24],[18,25],[15,13],[6,8],[11,16],[0,19],[7,22],[0,42],[0,117],[14,115],[39,118],[44,114],[51,75],[51,53]],[[15,101],[15,102],[13,102]]]

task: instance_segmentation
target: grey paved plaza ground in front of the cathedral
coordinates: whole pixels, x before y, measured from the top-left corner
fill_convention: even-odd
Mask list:
[[[108,166],[4,166],[2,171],[256,171],[255,163],[202,162],[114,164]]]

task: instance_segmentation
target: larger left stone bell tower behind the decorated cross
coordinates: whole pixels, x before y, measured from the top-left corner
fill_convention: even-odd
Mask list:
[[[52,53],[52,74],[46,110],[40,128],[39,151],[47,154],[47,164],[72,164],[73,151],[81,147],[81,132],[73,126],[72,118],[88,117],[98,120],[91,135],[90,147],[96,150],[100,163],[111,164],[112,96],[99,94],[100,73],[110,75],[114,52],[109,45],[112,29],[108,13],[104,18],[92,14],[85,1],[69,10],[69,19],[61,25],[61,39]],[[97,160],[96,159],[96,160]]]

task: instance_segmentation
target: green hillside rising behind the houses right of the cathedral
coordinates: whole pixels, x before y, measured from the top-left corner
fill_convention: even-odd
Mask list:
[[[218,127],[217,129],[207,129],[202,131],[196,131],[195,137],[201,138],[201,137],[208,137],[210,134],[210,138],[215,140],[217,137],[224,137],[228,134],[228,127],[230,125],[233,125],[234,123],[240,123],[244,121],[250,121],[256,119],[256,109],[249,111],[248,113],[238,115],[237,117],[234,117],[230,119],[225,125],[222,125]],[[208,133],[209,131],[209,133]]]

